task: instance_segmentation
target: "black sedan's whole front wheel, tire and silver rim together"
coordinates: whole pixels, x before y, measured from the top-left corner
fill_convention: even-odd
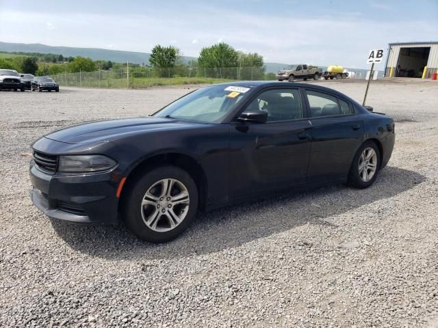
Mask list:
[[[133,176],[125,189],[122,215],[127,228],[150,243],[172,241],[190,226],[198,210],[198,189],[179,167],[157,167]]]

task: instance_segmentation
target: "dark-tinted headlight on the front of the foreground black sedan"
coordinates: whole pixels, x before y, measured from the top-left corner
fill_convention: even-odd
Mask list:
[[[103,155],[60,156],[59,172],[100,172],[112,169],[117,162]]]

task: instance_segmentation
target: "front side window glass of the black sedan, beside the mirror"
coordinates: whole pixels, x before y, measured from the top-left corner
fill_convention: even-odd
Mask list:
[[[266,111],[268,122],[302,118],[302,106],[298,89],[274,89],[261,92],[249,103],[245,111]]]

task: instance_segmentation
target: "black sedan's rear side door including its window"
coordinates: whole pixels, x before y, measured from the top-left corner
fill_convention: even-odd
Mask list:
[[[353,157],[363,140],[363,122],[352,104],[319,90],[305,90],[311,122],[311,156],[308,182],[348,175]]]

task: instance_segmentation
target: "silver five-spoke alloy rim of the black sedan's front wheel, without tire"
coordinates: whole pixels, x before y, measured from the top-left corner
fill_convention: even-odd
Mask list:
[[[190,206],[187,187],[176,179],[155,182],[143,196],[140,210],[144,224],[156,232],[175,229],[185,219]]]

